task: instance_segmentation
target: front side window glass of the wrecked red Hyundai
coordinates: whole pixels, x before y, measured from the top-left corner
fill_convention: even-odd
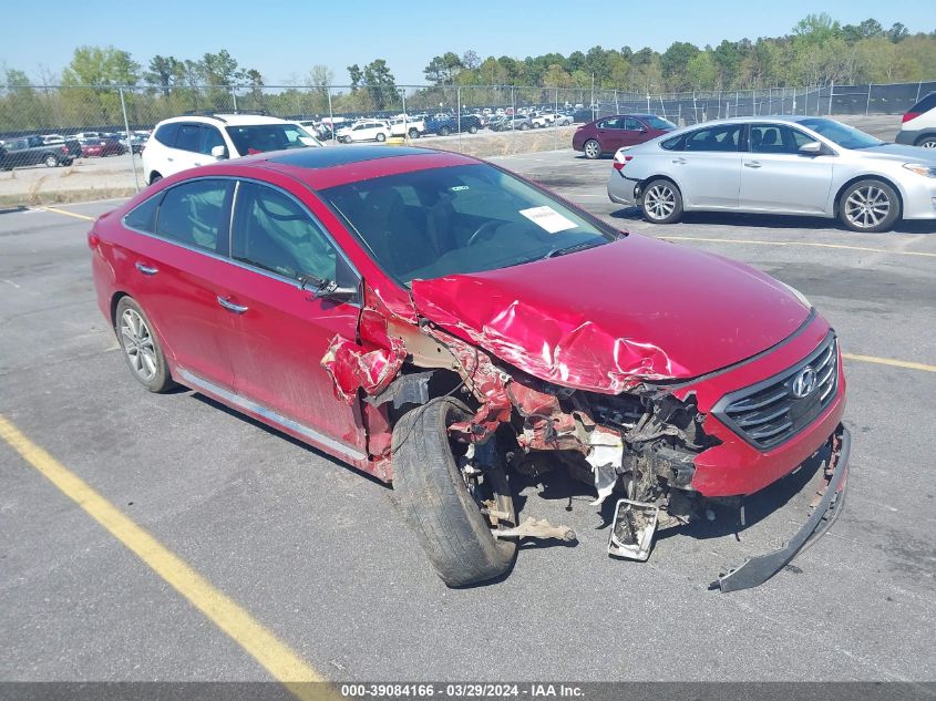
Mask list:
[[[233,258],[288,278],[336,279],[338,251],[295,199],[241,182],[235,207]]]

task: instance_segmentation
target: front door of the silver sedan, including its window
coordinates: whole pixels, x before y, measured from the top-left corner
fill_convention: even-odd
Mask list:
[[[758,212],[822,214],[832,187],[835,156],[801,154],[815,141],[786,124],[751,124],[743,154],[739,207]]]

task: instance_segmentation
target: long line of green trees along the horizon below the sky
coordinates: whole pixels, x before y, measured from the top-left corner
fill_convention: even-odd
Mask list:
[[[586,102],[594,90],[637,94],[682,91],[758,90],[829,83],[892,83],[936,79],[936,32],[911,34],[896,22],[841,24],[829,14],[810,14],[781,37],[723,40],[716,47],[675,41],[665,51],[649,47],[593,47],[570,54],[482,59],[475,51],[433,56],[423,74],[430,86],[403,93],[385,59],[347,66],[348,79],[312,65],[289,87],[265,90],[267,80],[225,49],[200,58],[155,55],[138,63],[114,47],[79,47],[59,75],[0,66],[0,131],[116,125],[123,121],[117,86],[134,124],[153,124],[192,110],[266,110],[279,115],[321,115],[373,111],[410,112],[463,104]],[[344,83],[333,89],[336,83]],[[61,85],[66,90],[56,90]],[[517,91],[487,89],[523,85]],[[470,90],[465,90],[470,89]],[[441,105],[441,106],[440,106]]]

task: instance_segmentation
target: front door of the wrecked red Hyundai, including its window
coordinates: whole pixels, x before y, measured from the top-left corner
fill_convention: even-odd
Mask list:
[[[332,339],[357,337],[357,302],[316,299],[300,276],[335,280],[347,266],[325,227],[291,194],[241,181],[223,305],[237,393],[301,426],[300,433],[361,460],[360,410],[335,396],[321,360]],[[280,422],[281,423],[281,422]]]

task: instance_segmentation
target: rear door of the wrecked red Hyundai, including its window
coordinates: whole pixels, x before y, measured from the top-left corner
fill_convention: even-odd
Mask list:
[[[176,364],[228,388],[220,339],[230,319],[218,306],[218,285],[230,268],[233,193],[234,181],[200,178],[144,202],[124,219],[130,238],[116,264]]]

